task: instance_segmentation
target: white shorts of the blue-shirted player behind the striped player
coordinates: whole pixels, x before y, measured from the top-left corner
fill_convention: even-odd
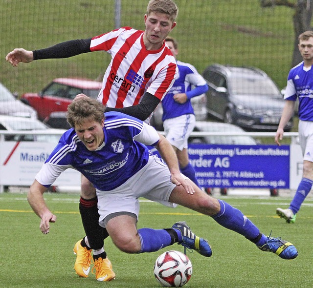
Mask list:
[[[194,114],[185,114],[179,117],[166,119],[163,127],[166,139],[171,145],[177,147],[180,151],[188,148],[188,138],[196,125]]]

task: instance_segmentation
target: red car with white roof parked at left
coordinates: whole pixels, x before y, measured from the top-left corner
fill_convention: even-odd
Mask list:
[[[44,121],[52,112],[66,112],[79,93],[97,98],[102,82],[80,78],[56,78],[39,93],[25,93],[21,101],[33,107]]]

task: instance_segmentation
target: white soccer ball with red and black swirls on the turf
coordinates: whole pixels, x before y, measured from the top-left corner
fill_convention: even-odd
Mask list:
[[[179,251],[166,251],[157,257],[154,273],[156,280],[165,287],[182,287],[190,279],[192,265]]]

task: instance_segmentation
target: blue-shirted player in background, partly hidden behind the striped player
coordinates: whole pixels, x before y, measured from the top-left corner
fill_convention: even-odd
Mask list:
[[[176,59],[178,55],[177,41],[172,37],[166,37],[165,43]],[[161,102],[163,126],[166,139],[176,152],[181,173],[199,186],[195,169],[189,163],[188,157],[188,138],[196,122],[190,99],[205,93],[208,85],[193,65],[177,59],[176,64],[179,68],[179,75]]]

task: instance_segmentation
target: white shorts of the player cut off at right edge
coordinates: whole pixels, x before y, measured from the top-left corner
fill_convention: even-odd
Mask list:
[[[313,122],[299,120],[298,130],[303,160],[313,162]]]

